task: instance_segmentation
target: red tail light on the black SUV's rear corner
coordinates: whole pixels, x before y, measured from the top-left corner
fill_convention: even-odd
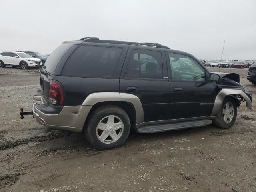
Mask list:
[[[50,104],[63,105],[64,104],[64,91],[61,84],[57,81],[50,81],[49,90]]]

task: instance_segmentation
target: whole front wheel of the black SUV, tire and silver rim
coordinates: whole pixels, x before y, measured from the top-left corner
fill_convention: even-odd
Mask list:
[[[218,128],[228,129],[236,121],[237,104],[232,98],[224,99],[217,118],[213,120],[213,124]]]

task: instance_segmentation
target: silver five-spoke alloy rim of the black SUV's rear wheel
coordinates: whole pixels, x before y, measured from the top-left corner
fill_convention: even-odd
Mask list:
[[[109,115],[98,123],[96,127],[97,138],[106,144],[116,142],[124,132],[124,123],[118,116]]]

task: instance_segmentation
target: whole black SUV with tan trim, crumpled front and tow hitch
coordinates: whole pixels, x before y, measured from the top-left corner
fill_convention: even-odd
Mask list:
[[[237,74],[210,73],[191,54],[161,44],[87,37],[50,54],[32,114],[48,128],[84,132],[106,150],[121,146],[130,129],[230,128],[240,102],[252,104],[238,82]]]

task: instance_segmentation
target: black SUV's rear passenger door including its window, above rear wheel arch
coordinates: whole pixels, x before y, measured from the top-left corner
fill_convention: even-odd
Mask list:
[[[127,55],[120,92],[134,94],[140,99],[144,122],[168,119],[170,88],[164,52],[130,46]]]

